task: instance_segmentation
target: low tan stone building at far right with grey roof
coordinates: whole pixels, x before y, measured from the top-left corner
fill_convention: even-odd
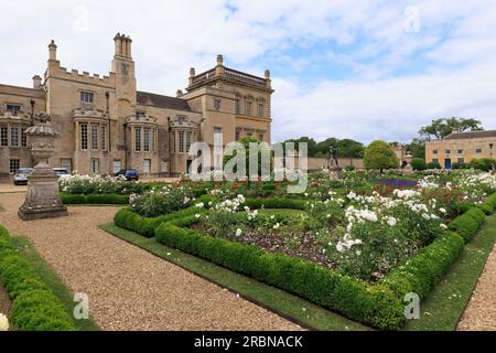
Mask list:
[[[425,161],[451,169],[453,163],[468,163],[473,159],[494,158],[496,130],[453,131],[440,140],[425,142]]]

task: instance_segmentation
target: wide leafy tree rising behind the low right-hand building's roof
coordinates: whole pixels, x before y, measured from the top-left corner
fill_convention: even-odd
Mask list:
[[[431,138],[442,139],[453,132],[453,129],[460,131],[483,130],[481,121],[472,118],[444,118],[432,120],[431,125],[424,126],[419,130],[419,135],[427,140]]]

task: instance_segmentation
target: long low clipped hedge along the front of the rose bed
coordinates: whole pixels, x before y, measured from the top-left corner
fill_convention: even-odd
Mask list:
[[[161,244],[251,276],[356,321],[382,330],[397,330],[405,322],[403,306],[387,286],[370,286],[298,257],[266,253],[252,245],[184,228],[195,221],[190,216],[162,223],[155,229],[155,238]]]

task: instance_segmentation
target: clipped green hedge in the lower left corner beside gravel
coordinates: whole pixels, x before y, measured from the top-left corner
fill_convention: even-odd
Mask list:
[[[0,281],[12,301],[10,321],[15,330],[76,330],[65,307],[14,249],[1,225]]]

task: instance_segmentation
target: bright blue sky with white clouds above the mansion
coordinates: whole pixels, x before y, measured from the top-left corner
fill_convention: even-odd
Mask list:
[[[494,0],[0,0],[0,83],[31,85],[51,39],[67,68],[107,74],[131,35],[138,88],[174,95],[188,68],[273,78],[273,140],[409,141],[440,117],[496,128]]]

